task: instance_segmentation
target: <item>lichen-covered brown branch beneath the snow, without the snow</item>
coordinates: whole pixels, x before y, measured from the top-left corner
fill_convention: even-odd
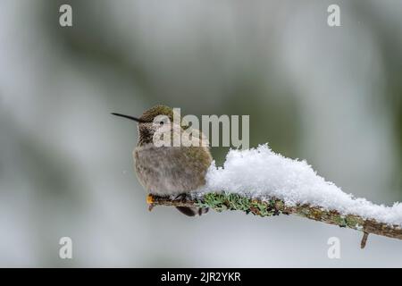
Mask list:
[[[222,212],[224,210],[240,210],[247,214],[251,213],[259,216],[296,214],[317,222],[329,223],[338,225],[339,227],[348,227],[349,229],[362,231],[364,233],[361,244],[362,248],[364,248],[365,241],[370,233],[402,240],[402,228],[399,225],[379,223],[374,219],[364,219],[355,214],[339,214],[337,210],[328,211],[319,206],[285,206],[285,203],[278,198],[271,198],[263,201],[228,193],[207,193],[200,198],[180,199],[148,195],[147,203],[150,205],[150,209],[153,206],[199,206],[210,207],[217,212]]]

